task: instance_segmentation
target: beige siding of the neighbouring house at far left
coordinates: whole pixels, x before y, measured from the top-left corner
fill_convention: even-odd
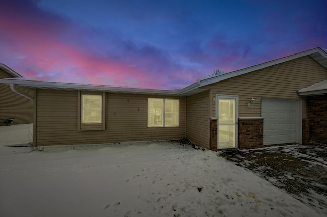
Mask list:
[[[0,79],[13,77],[0,69]],[[33,89],[17,86],[17,89],[33,96]],[[14,93],[9,85],[0,84],[0,125],[6,125],[7,118],[14,118],[14,124],[33,123],[33,101]]]

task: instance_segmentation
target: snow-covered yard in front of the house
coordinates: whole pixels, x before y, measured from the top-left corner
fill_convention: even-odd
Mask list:
[[[22,126],[31,127],[0,127],[2,217],[324,216],[212,151],[172,141],[4,146],[30,142]]]

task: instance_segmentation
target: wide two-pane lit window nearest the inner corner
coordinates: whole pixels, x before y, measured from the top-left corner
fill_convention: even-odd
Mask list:
[[[179,99],[148,98],[148,127],[178,127]]]

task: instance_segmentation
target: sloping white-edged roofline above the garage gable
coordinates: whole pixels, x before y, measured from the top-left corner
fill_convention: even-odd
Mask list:
[[[249,73],[249,72],[252,72],[252,71],[256,71],[256,70],[260,70],[260,69],[267,68],[267,67],[270,67],[270,66],[274,66],[274,65],[277,65],[277,64],[281,64],[281,63],[284,63],[284,62],[287,62],[287,61],[290,61],[290,60],[294,60],[294,59],[297,59],[297,58],[300,58],[300,57],[305,57],[305,56],[308,56],[308,55],[312,55],[313,53],[317,53],[317,52],[320,53],[320,55],[322,55],[327,60],[327,53],[323,49],[321,49],[320,47],[316,47],[316,48],[313,48],[313,49],[310,49],[310,50],[295,53],[294,55],[286,56],[286,57],[283,57],[283,58],[278,58],[278,59],[271,60],[271,61],[261,63],[261,64],[258,64],[258,65],[254,65],[254,66],[239,69],[239,70],[236,70],[236,71],[228,72],[228,73],[225,73],[225,74],[222,74],[222,75],[219,75],[219,76],[206,78],[206,79],[200,80],[200,81],[198,81],[196,83],[193,83],[193,84],[181,89],[181,92],[186,93],[186,92],[192,91],[192,90],[194,90],[196,88],[200,88],[200,87],[203,87],[203,86],[206,86],[206,85],[211,85],[213,83],[220,82],[220,81],[226,80],[228,78],[236,77],[236,76],[246,74],[246,73]],[[325,66],[323,66],[323,67],[326,68]]]

